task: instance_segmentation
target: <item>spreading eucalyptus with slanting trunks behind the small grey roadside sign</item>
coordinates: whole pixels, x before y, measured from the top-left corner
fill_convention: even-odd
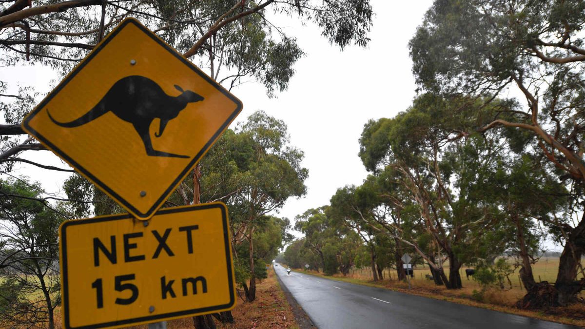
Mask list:
[[[425,229],[449,258],[449,279],[442,266],[419,253],[453,289],[462,287],[460,267],[475,257],[469,246],[487,238],[473,232],[491,225],[495,214],[493,205],[472,191],[495,169],[496,150],[480,136],[453,138],[462,126],[481,119],[457,112],[464,101],[423,95],[393,119],[370,121],[360,139],[366,169],[392,168],[414,200]]]

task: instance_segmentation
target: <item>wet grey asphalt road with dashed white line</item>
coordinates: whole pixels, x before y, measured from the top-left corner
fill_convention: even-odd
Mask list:
[[[321,329],[579,328],[298,272],[287,275],[280,265],[274,269],[298,304]]]

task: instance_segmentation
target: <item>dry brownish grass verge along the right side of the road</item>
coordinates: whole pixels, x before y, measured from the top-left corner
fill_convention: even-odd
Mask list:
[[[473,299],[473,288],[466,287],[458,290],[448,290],[444,286],[435,286],[432,282],[426,280],[412,280],[412,289],[408,289],[406,282],[397,280],[380,280],[373,282],[370,279],[363,277],[343,277],[342,275],[326,276],[323,273],[316,273],[308,270],[298,270],[298,272],[307,273],[314,276],[321,276],[326,279],[338,280],[349,283],[356,283],[357,285],[380,287],[384,289],[394,290],[397,292],[414,294],[417,296],[428,297],[438,300],[450,301],[452,303],[464,304],[468,306],[480,307],[482,309],[489,309],[500,311],[503,313],[517,314],[519,316],[539,318],[541,320],[553,321],[563,324],[579,325],[585,327],[585,305],[575,304],[569,307],[555,307],[546,311],[528,311],[519,310],[514,307],[522,294],[518,294],[515,290],[508,290],[510,294],[503,294],[500,290],[488,290],[484,297],[484,302],[479,302]],[[515,298],[514,296],[518,296]]]

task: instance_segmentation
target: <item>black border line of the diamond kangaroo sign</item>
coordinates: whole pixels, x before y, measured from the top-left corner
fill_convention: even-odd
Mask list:
[[[229,100],[233,101],[236,104],[236,108],[234,109],[232,114],[228,117],[228,119],[223,123],[222,126],[219,127],[218,131],[216,131],[214,133],[214,135],[211,137],[211,139],[209,139],[208,142],[205,143],[205,145],[199,151],[199,153],[197,153],[197,155],[195,155],[193,157],[193,159],[187,165],[187,167],[185,167],[185,169],[178,175],[177,179],[175,179],[171,183],[171,185],[166,190],[164,190],[164,192],[160,196],[160,198],[154,202],[153,206],[149,210],[147,210],[146,213],[142,213],[141,211],[137,210],[136,207],[133,207],[132,204],[130,204],[124,198],[119,196],[118,193],[115,193],[115,191],[110,189],[110,187],[107,186],[104,182],[97,179],[97,177],[95,177],[87,169],[85,169],[83,166],[81,166],[79,163],[77,163],[74,159],[72,159],[70,156],[68,156],[65,152],[63,152],[63,150],[61,150],[60,148],[57,148],[57,146],[53,145],[53,143],[51,143],[46,137],[41,135],[39,132],[37,132],[35,129],[33,129],[29,125],[30,120],[33,117],[35,117],[35,115],[37,115],[47,105],[47,103],[49,101],[51,101],[53,99],[53,97],[55,95],[57,95],[59,93],[59,91],[61,91],[61,89],[63,89],[63,87],[65,87],[77,75],[77,73],[79,73],[85,67],[85,65],[90,63],[90,61],[102,49],[104,49],[106,44],[108,44],[113,39],[113,37],[118,35],[118,33],[123,28],[125,28],[125,26],[128,24],[133,24],[137,28],[142,30],[147,36],[149,36],[151,39],[153,39],[156,43],[160,44],[160,46],[162,46],[168,52],[173,54],[173,56],[177,57],[178,60],[182,61],[187,67],[191,68],[192,71],[194,71],[199,76],[204,78],[204,80],[206,80],[209,84],[213,85],[216,88],[216,90],[220,91],[223,95],[228,97]],[[26,118],[22,122],[22,128],[26,132],[30,133],[30,135],[32,135],[36,139],[38,139],[41,143],[43,143],[43,145],[47,146],[47,148],[49,148],[49,149],[53,150],[53,152],[57,153],[57,155],[59,155],[61,157],[61,159],[65,160],[72,167],[74,167],[75,170],[80,172],[83,176],[87,177],[90,181],[92,181],[92,183],[96,184],[99,188],[104,190],[104,192],[106,194],[108,194],[109,196],[114,198],[116,201],[118,201],[118,203],[120,203],[123,207],[125,207],[128,211],[130,211],[130,213],[137,215],[137,217],[139,217],[142,220],[146,220],[147,218],[152,217],[154,212],[157,211],[161,207],[161,205],[164,203],[164,200],[167,200],[168,196],[173,192],[174,188],[178,185],[178,183],[180,183],[183,180],[183,178],[190,172],[190,170],[195,165],[197,165],[197,162],[199,162],[199,160],[201,160],[201,157],[205,154],[205,152],[207,152],[207,150],[209,150],[209,148],[211,148],[211,146],[215,143],[215,141],[219,138],[219,136],[221,136],[222,132],[225,131],[226,128],[228,128],[228,125],[233,121],[233,119],[236,118],[236,116],[240,113],[240,111],[242,111],[242,107],[243,107],[242,102],[240,100],[238,100],[238,98],[234,97],[227,90],[225,90],[225,88],[223,88],[221,85],[216,83],[212,78],[208,77],[207,74],[203,73],[194,64],[192,64],[190,61],[186,60],[183,56],[181,56],[181,54],[177,53],[177,51],[174,50],[172,47],[168,46],[168,44],[166,42],[164,42],[159,37],[157,37],[152,32],[150,32],[150,30],[147,29],[146,27],[144,27],[140,22],[138,22],[136,19],[133,19],[133,18],[126,18],[125,20],[123,20],[122,23],[120,23],[119,26],[116,27],[116,29],[114,29],[111,33],[109,33],[109,35],[106,36],[106,38],[100,44],[98,44],[98,46],[95,47],[95,49],[92,50],[92,52],[90,54],[88,54],[88,56],[83,61],[81,61],[81,63],[77,67],[75,67],[74,70],[71,71],[71,73],[69,73],[68,76],[63,81],[61,81],[61,83],[59,85],[57,85],[57,87],[54,88],[54,90],[51,91],[50,94],[47,95],[47,97],[44,98],[44,100],[42,102],[40,102],[40,104],[32,112],[30,112],[29,115],[26,116]]]

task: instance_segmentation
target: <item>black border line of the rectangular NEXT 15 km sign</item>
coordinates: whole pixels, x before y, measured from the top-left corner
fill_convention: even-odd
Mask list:
[[[229,238],[229,224],[228,224],[228,208],[225,204],[218,202],[218,203],[207,203],[207,204],[197,204],[197,205],[187,205],[183,207],[173,207],[173,208],[164,208],[157,211],[156,215],[165,215],[165,214],[174,214],[174,213],[185,213],[188,211],[197,211],[197,210],[205,210],[205,209],[212,209],[212,208],[219,208],[222,214],[222,224],[223,224],[223,239],[224,239],[224,246],[225,246],[225,253],[226,253],[226,263],[228,267],[228,282],[229,282],[229,303],[222,304],[217,306],[209,306],[209,307],[202,307],[201,309],[192,309],[192,310],[185,310],[185,311],[177,311],[172,313],[163,313],[163,314],[156,314],[153,316],[146,316],[146,317],[138,317],[138,318],[130,318],[121,321],[111,321],[106,323],[98,323],[98,324],[91,324],[85,325],[82,327],[71,327],[70,318],[69,318],[69,289],[68,289],[68,273],[67,273],[67,228],[74,225],[84,225],[84,224],[93,224],[96,222],[107,222],[107,221],[118,221],[118,220],[129,220],[134,218],[130,214],[120,214],[120,215],[108,215],[108,216],[101,216],[101,217],[94,217],[88,218],[85,220],[70,220],[63,222],[61,227],[59,228],[60,231],[60,252],[61,252],[61,278],[63,284],[63,296],[62,296],[62,307],[63,307],[63,322],[65,328],[104,328],[104,327],[111,327],[111,326],[119,326],[125,324],[135,324],[135,323],[143,323],[144,321],[152,321],[152,320],[161,320],[163,321],[165,318],[171,317],[178,317],[178,316],[188,316],[190,314],[201,314],[201,313],[210,313],[212,311],[218,310],[226,310],[230,309],[235,305],[235,294],[234,294],[234,286],[233,286],[233,269],[232,269],[232,254],[230,252],[230,238]]]

